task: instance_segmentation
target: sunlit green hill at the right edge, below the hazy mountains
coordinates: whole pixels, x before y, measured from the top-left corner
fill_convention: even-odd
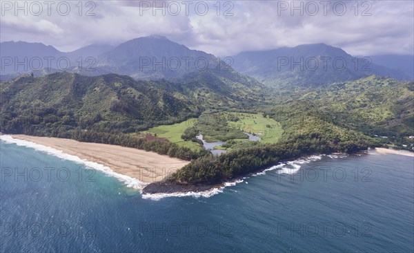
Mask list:
[[[299,101],[348,129],[371,136],[408,136],[414,135],[413,91],[414,82],[372,75],[315,89]]]

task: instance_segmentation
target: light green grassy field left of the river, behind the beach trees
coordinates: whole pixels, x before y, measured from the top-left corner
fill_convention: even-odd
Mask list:
[[[177,143],[180,146],[188,147],[193,150],[199,150],[201,149],[201,146],[199,144],[189,140],[185,141],[181,139],[181,135],[184,133],[184,131],[188,129],[188,127],[193,127],[196,121],[196,118],[192,118],[177,124],[152,127],[145,132],[152,133],[152,135],[157,135],[157,137],[167,138],[170,142]]]

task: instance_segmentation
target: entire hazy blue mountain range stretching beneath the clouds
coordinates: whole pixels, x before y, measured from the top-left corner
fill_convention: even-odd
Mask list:
[[[28,48],[21,50],[19,48],[21,45],[32,46],[32,50]],[[34,50],[38,47],[40,49]],[[192,50],[185,45],[177,44],[161,35],[130,39],[117,46],[92,44],[69,53],[60,52],[53,46],[23,41],[1,42],[1,48],[1,54],[6,57],[12,57],[14,54],[17,57],[26,55],[29,58],[56,58],[50,68],[31,71],[35,76],[59,71],[88,76],[116,73],[128,75],[134,79],[167,79],[173,82],[179,80],[183,83],[184,77],[194,77],[194,75],[198,77],[193,79],[202,79],[201,77],[210,79],[206,76],[206,73],[209,73],[213,75],[211,78],[220,82],[222,86],[242,84],[248,87],[253,83],[260,86],[261,82],[267,86],[282,87],[282,89],[320,86],[359,79],[372,74],[400,80],[411,78],[411,75],[404,74],[402,71],[404,66],[401,64],[380,66],[373,64],[369,58],[353,57],[342,48],[324,43],[241,52],[233,57],[233,64],[227,64],[219,57],[204,51]],[[19,53],[13,53],[18,49]],[[88,55],[85,55],[86,53]],[[63,64],[57,62],[59,57],[68,57],[70,67],[61,69],[65,61]],[[44,63],[45,60],[43,60]],[[382,63],[384,64],[384,61]],[[342,68],[342,66],[345,67]],[[13,64],[2,66],[1,69],[1,79],[12,79],[30,72],[30,69],[24,71],[21,66],[16,68]],[[238,73],[253,78],[240,79]],[[236,79],[239,81],[234,82]],[[225,89],[231,90],[230,87]]]

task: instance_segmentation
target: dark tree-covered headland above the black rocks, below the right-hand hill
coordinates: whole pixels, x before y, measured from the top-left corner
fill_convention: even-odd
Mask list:
[[[277,143],[253,142],[250,147],[235,149],[218,158],[198,158],[172,174],[169,180],[178,184],[215,184],[257,171],[279,160],[313,153],[353,153],[370,145],[380,145],[361,133],[321,121],[313,113],[310,111],[303,122],[300,118],[285,121],[285,132]]]

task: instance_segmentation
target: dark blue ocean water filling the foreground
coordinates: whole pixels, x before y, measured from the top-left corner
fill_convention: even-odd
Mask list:
[[[408,156],[323,157],[297,174],[267,171],[210,198],[155,201],[115,178],[1,142],[0,250],[413,252],[413,170]]]

